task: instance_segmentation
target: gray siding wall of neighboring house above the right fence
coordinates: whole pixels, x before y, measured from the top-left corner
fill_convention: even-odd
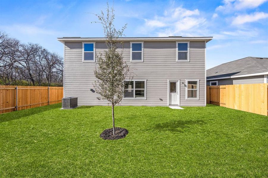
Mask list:
[[[210,80],[214,81],[214,80]],[[236,85],[236,84],[253,84],[253,83],[264,83],[264,75],[250,76],[250,77],[238,77],[230,79],[220,79],[218,85]],[[207,85],[210,85],[209,80]]]

